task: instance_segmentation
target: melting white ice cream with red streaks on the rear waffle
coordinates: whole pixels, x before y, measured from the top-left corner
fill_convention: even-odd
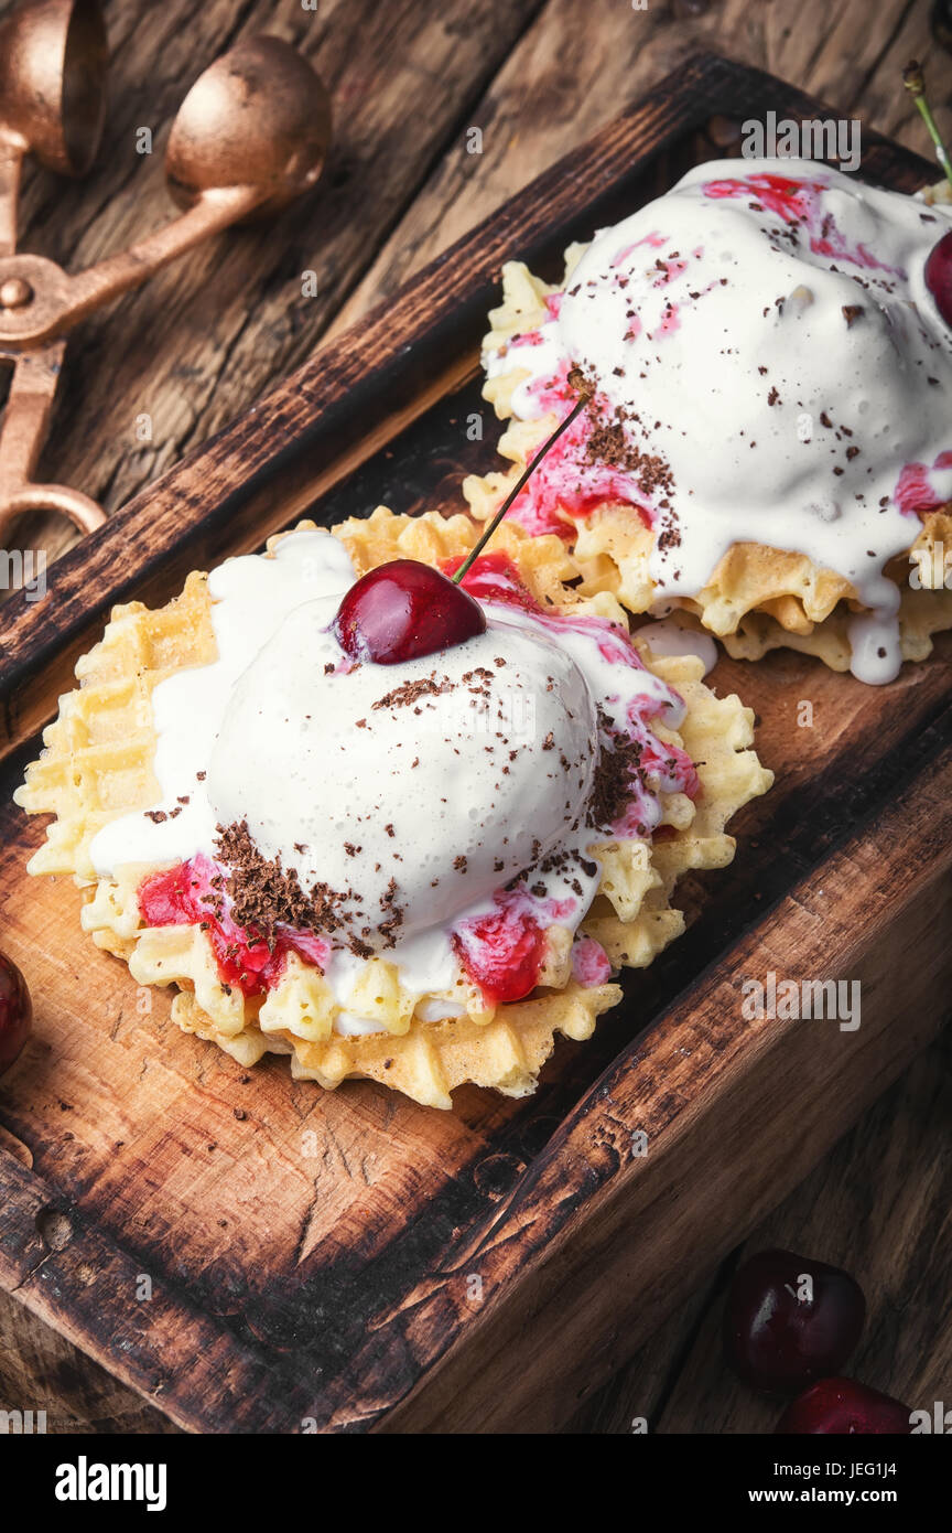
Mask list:
[[[511,514],[546,530],[631,503],[660,602],[695,596],[735,543],[805,553],[868,609],[854,675],[892,679],[883,569],[952,498],[952,334],[923,274],[950,216],[811,161],[745,159],[602,230],[548,320],[484,360],[525,369],[523,420],[568,414],[582,368],[623,451],[577,422]]]

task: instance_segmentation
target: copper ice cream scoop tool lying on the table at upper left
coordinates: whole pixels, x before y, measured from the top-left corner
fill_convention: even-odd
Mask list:
[[[86,314],[228,224],[268,216],[318,179],[331,104],[311,66],[277,37],[251,37],[193,84],[171,126],[165,179],[178,218],[86,271],[17,254],[20,167],[34,153],[81,176],[106,117],[99,0],[38,0],[0,26],[0,363],[12,363],[0,431],[0,544],[14,517],[58,510],[83,532],[99,506],[64,484],[37,484],[66,334]]]

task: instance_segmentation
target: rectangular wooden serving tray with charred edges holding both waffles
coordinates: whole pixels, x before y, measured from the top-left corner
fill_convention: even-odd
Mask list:
[[[776,788],[732,825],[733,866],[680,886],[687,935],[519,1102],[242,1072],[83,938],[72,883],[28,880],[43,828],[9,805],[115,601],[165,599],[302,514],[458,509],[493,463],[478,343],[500,261],[554,274],[718,153],[712,118],[767,110],[826,115],[698,57],[60,560],[44,602],[0,610],[0,946],[37,1007],[0,1081],[0,1282],[185,1429],[559,1427],[943,1019],[952,636],[883,688],[719,662]],[[866,135],[863,173],[934,172]],[[742,981],[770,972],[859,980],[859,1029],[745,1021]]]

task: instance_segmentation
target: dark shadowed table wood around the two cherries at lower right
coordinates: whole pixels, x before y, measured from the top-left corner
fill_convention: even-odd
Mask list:
[[[897,1021],[901,1021],[900,1012]],[[730,1274],[784,1246],[845,1266],[866,1295],[848,1372],[932,1409],[952,1377],[952,1030],[915,1061],[800,1187],[732,1252],[719,1280],[575,1413],[575,1433],[628,1433],[635,1416],[673,1433],[771,1432],[781,1404],[724,1366]]]

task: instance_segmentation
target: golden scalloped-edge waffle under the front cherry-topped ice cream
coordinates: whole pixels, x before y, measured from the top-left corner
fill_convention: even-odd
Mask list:
[[[302,523],[303,527],[312,523]],[[380,507],[367,520],[334,529],[360,573],[395,556],[429,563],[459,560],[479,529],[468,517],[396,517]],[[274,543],[268,544],[268,552]],[[557,537],[530,538],[502,529],[502,547],[543,606],[571,606],[624,621],[609,592],[579,595],[569,581],[579,569]],[[588,1038],[602,1012],[614,1006],[617,984],[582,987],[572,980],[571,934],[546,932],[540,986],[516,1004],[487,1006],[464,980],[452,993],[406,990],[401,972],[383,958],[367,960],[360,980],[360,1013],[380,1032],[346,1036],[335,1030],[338,1010],[321,973],[291,954],[280,983],[266,996],[246,998],[225,986],[207,935],[196,926],[142,926],[138,888],[144,866],[98,878],[90,843],[109,820],[147,809],[159,799],[153,774],[152,690],[174,670],[216,659],[207,576],[191,573],[181,596],[155,612],[141,602],[113,609],[101,642],[77,665],[81,685],[60,701],[44,733],[44,751],[28,768],[15,799],[31,814],[52,814],[46,843],[29,863],[34,874],[72,874],[83,889],[81,924],[96,946],[129,964],[139,984],[176,986],[173,1019],[210,1039],[243,1065],[262,1055],[291,1055],[297,1078],[337,1087],[349,1076],[380,1081],[430,1107],[452,1107],[462,1082],[523,1096],[536,1085],[556,1033]],[[696,802],[663,796],[667,839],[606,842],[592,848],[602,868],[598,894],[582,929],[597,938],[617,967],[644,967],[684,929],[670,904],[678,877],[693,868],[721,868],[733,857],[725,832],[732,814],[765,793],[773,777],[750,750],[753,714],[736,696],[715,698],[693,656],[652,656],[652,670],[675,687],[687,710],[680,731],[655,725],[663,740],[683,744],[698,763]],[[452,1000],[461,1015],[430,1023],[419,1015],[432,1001]]]

